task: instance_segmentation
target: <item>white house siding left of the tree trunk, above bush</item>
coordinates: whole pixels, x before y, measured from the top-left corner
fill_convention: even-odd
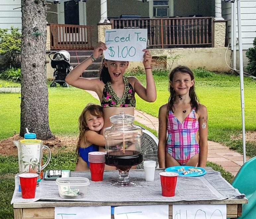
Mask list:
[[[21,32],[21,0],[0,0],[0,28],[19,28]],[[14,8],[18,8],[15,9]]]

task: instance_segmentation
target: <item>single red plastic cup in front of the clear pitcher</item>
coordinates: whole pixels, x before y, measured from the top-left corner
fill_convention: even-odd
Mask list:
[[[38,174],[23,173],[19,174],[22,198],[35,198]]]

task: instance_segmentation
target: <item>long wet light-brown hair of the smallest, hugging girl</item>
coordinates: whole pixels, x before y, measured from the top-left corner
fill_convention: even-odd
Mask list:
[[[93,104],[93,103],[87,104],[86,107],[81,112],[81,115],[78,118],[79,137],[76,144],[76,153],[75,153],[77,155],[77,162],[79,157],[80,144],[83,140],[84,140],[84,143],[86,142],[86,132],[90,130],[85,121],[85,116],[87,112],[90,112],[92,115],[95,115],[95,116],[103,116],[102,107],[100,105]]]

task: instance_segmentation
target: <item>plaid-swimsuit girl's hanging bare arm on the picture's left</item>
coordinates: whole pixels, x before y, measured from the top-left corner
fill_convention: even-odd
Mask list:
[[[166,148],[166,133],[167,133],[167,121],[166,121],[167,105],[163,105],[159,109],[158,120],[159,120],[159,129],[158,129],[158,162],[159,168],[165,167],[165,148]]]

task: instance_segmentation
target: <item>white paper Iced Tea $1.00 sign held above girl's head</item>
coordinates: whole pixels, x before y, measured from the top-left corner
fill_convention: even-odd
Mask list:
[[[111,29],[105,31],[105,58],[115,61],[143,61],[147,47],[146,29]]]

